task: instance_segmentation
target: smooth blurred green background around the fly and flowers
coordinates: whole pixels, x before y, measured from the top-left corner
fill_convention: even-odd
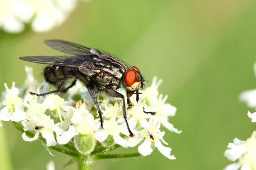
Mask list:
[[[183,132],[162,128],[176,160],[156,149],[143,158],[101,160],[94,169],[222,169],[232,163],[223,156],[228,143],[235,137],[246,140],[255,130],[247,117],[247,111],[254,109],[238,96],[256,87],[256,1],[81,2],[51,32],[1,34],[1,91],[3,83],[22,85],[25,65],[42,80],[42,66],[18,57],[60,54],[43,44],[46,39],[104,49],[137,66],[148,86],[158,76],[163,79],[160,93],[177,107],[170,122]],[[50,160],[62,169],[69,160],[55,151],[55,156],[49,155],[38,141],[24,142],[9,122],[3,123],[0,134],[0,151],[7,154],[1,154],[0,164],[10,161],[11,169],[46,169]]]

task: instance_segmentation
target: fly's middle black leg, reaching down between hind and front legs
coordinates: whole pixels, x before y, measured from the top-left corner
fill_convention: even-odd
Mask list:
[[[91,90],[91,87],[90,87],[90,82],[88,79],[86,79],[86,77],[76,71],[72,71],[72,74],[77,78],[79,79],[81,82],[83,82],[85,85],[86,85],[86,88],[88,89],[89,91],[89,94],[90,96],[92,96],[92,99],[94,101],[94,104],[96,105],[96,108],[97,108],[97,111],[98,111],[98,114],[100,115],[100,121],[101,121],[101,128],[103,129],[103,120],[102,120],[102,112],[101,112],[101,108],[100,108],[100,105],[98,104],[98,101],[96,100],[94,94],[93,94],[93,91]]]

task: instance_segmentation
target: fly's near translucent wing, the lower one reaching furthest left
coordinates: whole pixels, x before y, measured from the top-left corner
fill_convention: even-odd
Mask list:
[[[91,69],[91,71],[98,70],[89,56],[27,56],[19,57],[19,59],[45,65],[76,67]]]

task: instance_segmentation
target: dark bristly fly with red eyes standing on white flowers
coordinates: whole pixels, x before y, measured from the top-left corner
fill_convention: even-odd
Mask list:
[[[57,92],[66,92],[76,84],[77,80],[84,83],[90,96],[96,105],[100,115],[101,128],[103,129],[102,112],[94,94],[105,91],[106,94],[122,99],[123,118],[125,119],[130,137],[133,133],[129,128],[126,116],[125,96],[119,93],[119,88],[125,88],[128,109],[131,104],[130,97],[136,94],[139,100],[139,89],[146,86],[146,82],[139,69],[135,66],[128,67],[121,60],[110,54],[101,52],[97,49],[88,48],[79,44],[63,40],[44,41],[50,48],[73,56],[28,56],[20,57],[24,61],[50,65],[44,69],[44,78],[49,84],[57,87],[57,90],[49,91],[44,94],[31,95],[45,96]],[[73,79],[70,86],[66,87],[68,79]],[[145,111],[144,111],[145,112]],[[145,112],[151,113],[151,112]]]

